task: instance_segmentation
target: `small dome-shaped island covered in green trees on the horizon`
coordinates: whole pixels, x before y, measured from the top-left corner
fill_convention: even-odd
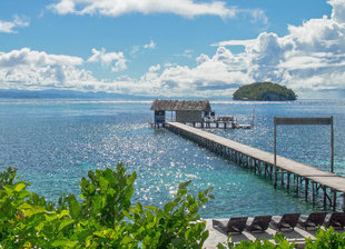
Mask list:
[[[273,82],[256,82],[238,88],[234,100],[288,101],[296,100],[292,89]]]

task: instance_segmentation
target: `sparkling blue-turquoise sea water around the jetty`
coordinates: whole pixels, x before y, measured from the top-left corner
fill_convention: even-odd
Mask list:
[[[255,129],[214,130],[230,139],[273,151],[273,117],[335,119],[335,171],[345,176],[345,101],[214,102],[217,114],[235,114]],[[217,157],[166,130],[149,128],[150,102],[115,100],[0,99],[0,169],[19,169],[33,191],[57,201],[62,192],[79,193],[78,180],[90,169],[114,168],[118,161],[136,170],[135,201],[161,206],[178,183],[191,179],[191,192],[214,187],[216,200],[204,218],[243,215],[307,213],[321,203],[303,195],[274,189],[262,177]],[[329,169],[329,127],[278,127],[278,153]],[[284,205],[282,205],[284,203]]]

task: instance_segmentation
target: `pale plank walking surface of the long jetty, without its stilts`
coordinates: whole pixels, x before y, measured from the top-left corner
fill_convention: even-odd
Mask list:
[[[264,163],[273,165],[274,166],[274,153],[246,146],[234,140],[223,138],[217,135],[213,135],[210,132],[196,129],[183,123],[178,122],[167,122],[168,126],[174,127],[174,129],[179,129],[188,133],[193,133],[200,138],[211,141],[213,143],[218,143],[220,146],[227,147],[233,151],[237,151],[238,153],[246,155],[252,158],[256,158]],[[337,176],[333,172],[325,171],[322,169],[317,169],[315,167],[284,158],[277,156],[276,163],[278,168],[283,170],[289,171],[292,173],[298,175],[300,177],[307,178],[314,182],[318,182],[322,186],[327,188],[335,189],[336,191],[345,193],[345,178],[342,176]]]

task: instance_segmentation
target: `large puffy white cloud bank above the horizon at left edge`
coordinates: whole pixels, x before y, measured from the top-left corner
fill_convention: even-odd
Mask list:
[[[69,88],[80,80],[95,81],[90,72],[78,69],[82,62],[78,57],[48,54],[29,48],[0,52],[1,88],[41,90]]]

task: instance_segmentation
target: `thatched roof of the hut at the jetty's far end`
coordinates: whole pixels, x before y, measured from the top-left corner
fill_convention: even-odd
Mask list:
[[[210,111],[208,100],[156,99],[150,108],[156,111]]]

